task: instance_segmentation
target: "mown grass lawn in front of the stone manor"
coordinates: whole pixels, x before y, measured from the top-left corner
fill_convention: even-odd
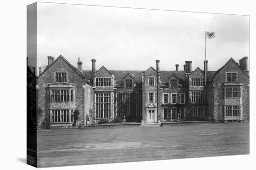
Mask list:
[[[38,132],[38,166],[249,154],[249,123],[123,126]]]

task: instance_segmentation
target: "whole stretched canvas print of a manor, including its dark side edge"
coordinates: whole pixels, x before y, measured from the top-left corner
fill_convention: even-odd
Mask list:
[[[249,154],[249,16],[27,6],[27,164]]]

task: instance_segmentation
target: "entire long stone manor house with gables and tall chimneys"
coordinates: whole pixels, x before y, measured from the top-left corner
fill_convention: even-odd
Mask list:
[[[93,59],[92,70],[82,71],[80,59],[77,68],[62,56],[55,61],[53,57],[48,57],[48,60],[49,65],[38,76],[39,127],[72,126],[71,112],[75,109],[80,113],[77,122],[80,125],[97,124],[103,120],[111,122],[116,118],[121,121],[141,120],[141,124],[182,120],[249,120],[246,58],[240,61],[243,67],[230,58],[217,71],[208,71],[207,61],[204,62],[206,70],[197,67],[192,71],[192,61],[186,61],[182,71],[178,70],[178,64],[175,71],[161,71],[160,61],[156,60],[156,69],[116,71],[104,66],[96,70],[96,60]],[[57,73],[66,73],[67,80],[57,82]],[[228,73],[234,73],[236,79],[228,81]],[[231,88],[241,89],[234,91],[234,95],[238,96],[223,97],[226,91],[222,93],[222,89]],[[68,101],[53,101],[56,100],[54,90],[60,90],[60,93],[63,93],[61,90],[68,90]],[[72,101],[71,93],[74,93]],[[68,110],[69,117],[66,118],[69,121],[61,122],[64,118],[60,116],[60,122],[54,122],[54,110]],[[65,115],[65,112],[60,114]],[[230,112],[232,115],[234,112],[234,116],[230,116]]]

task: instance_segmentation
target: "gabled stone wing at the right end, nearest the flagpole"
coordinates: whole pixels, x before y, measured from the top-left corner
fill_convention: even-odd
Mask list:
[[[209,91],[208,101],[210,101],[209,115],[213,116],[213,120],[225,122],[249,120],[249,75],[246,71],[231,58],[212,76],[207,89]],[[235,73],[236,80],[228,81],[228,73]],[[222,89],[226,90],[227,88],[239,88],[240,97],[227,97],[225,96],[228,93],[227,91],[223,91],[224,95],[222,95]],[[240,106],[241,114],[235,117],[226,116],[226,106]],[[224,107],[224,110],[222,110],[222,107]]]

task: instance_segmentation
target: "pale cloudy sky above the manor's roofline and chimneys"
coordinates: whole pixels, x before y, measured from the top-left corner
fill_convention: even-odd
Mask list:
[[[249,16],[38,3],[37,66],[62,55],[76,67],[80,57],[83,70],[93,58],[96,69],[147,70],[156,59],[160,70],[183,70],[185,61],[203,69],[205,31],[216,32],[208,70],[249,57]]]

